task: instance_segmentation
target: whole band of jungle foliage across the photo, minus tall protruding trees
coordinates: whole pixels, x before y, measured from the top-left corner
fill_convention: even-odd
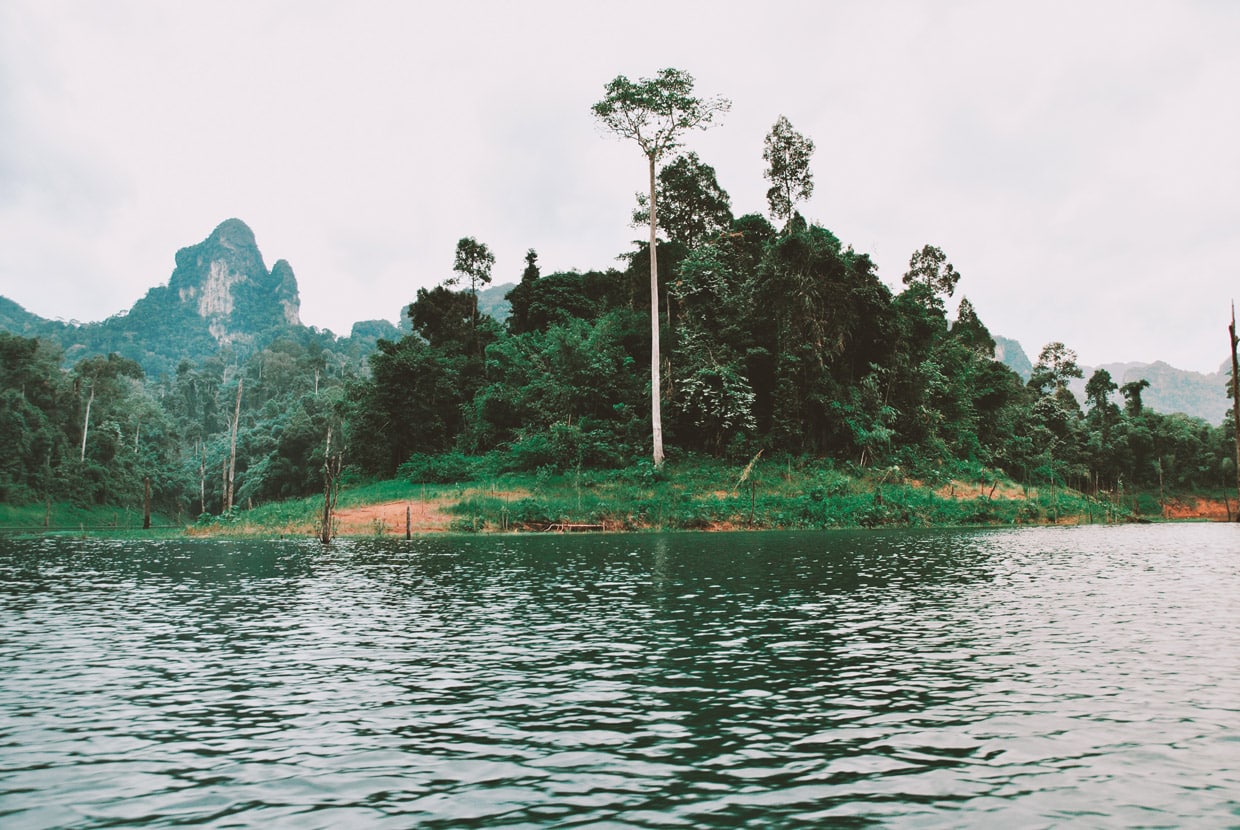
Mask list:
[[[1079,402],[1061,344],[1023,383],[992,359],[967,299],[949,320],[932,247],[893,293],[826,228],[779,232],[754,215],[727,228],[660,246],[671,458],[743,466],[763,450],[921,476],[983,466],[1086,491],[1234,476],[1226,424],[1152,412],[1141,383],[1116,388],[1105,370]],[[469,289],[422,289],[413,332],[381,340],[368,366],[283,339],[146,378],[114,355],[64,370],[55,346],[0,332],[0,500],[134,505],[149,478],[164,512],[218,512],[239,381],[238,507],[321,490],[330,424],[366,478],[632,465],[650,440],[646,256],[539,275],[531,254],[506,324],[475,314]]]

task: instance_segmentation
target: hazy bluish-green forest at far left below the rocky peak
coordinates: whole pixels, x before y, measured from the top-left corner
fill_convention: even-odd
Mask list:
[[[60,347],[0,332],[0,501],[222,510],[237,387],[233,504],[321,486],[324,434],[360,367],[304,330],[242,359],[231,351],[149,378],[124,357],[62,367]]]

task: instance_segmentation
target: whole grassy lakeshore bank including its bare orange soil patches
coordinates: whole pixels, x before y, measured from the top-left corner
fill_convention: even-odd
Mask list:
[[[970,474],[971,473],[971,474]],[[215,517],[198,533],[314,535],[322,498]],[[1024,488],[990,470],[918,479],[889,469],[827,463],[714,460],[639,464],[621,470],[503,474],[459,483],[392,480],[346,486],[336,532],[548,530],[768,530],[1011,526],[1159,519],[1156,499],[1090,498],[1063,488]]]

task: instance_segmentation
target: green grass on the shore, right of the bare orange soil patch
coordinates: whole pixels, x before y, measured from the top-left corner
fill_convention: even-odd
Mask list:
[[[978,470],[960,493],[905,480],[899,470],[838,469],[823,462],[738,465],[693,459],[662,470],[637,465],[580,475],[503,476],[494,489],[513,499],[471,495],[454,509],[458,530],[544,530],[556,525],[608,530],[932,527],[1125,521],[1130,511],[1058,489],[1028,498],[990,498],[994,474]],[[951,480],[945,479],[945,484]],[[1011,483],[1009,483],[1011,485]],[[987,495],[981,495],[981,494]]]

